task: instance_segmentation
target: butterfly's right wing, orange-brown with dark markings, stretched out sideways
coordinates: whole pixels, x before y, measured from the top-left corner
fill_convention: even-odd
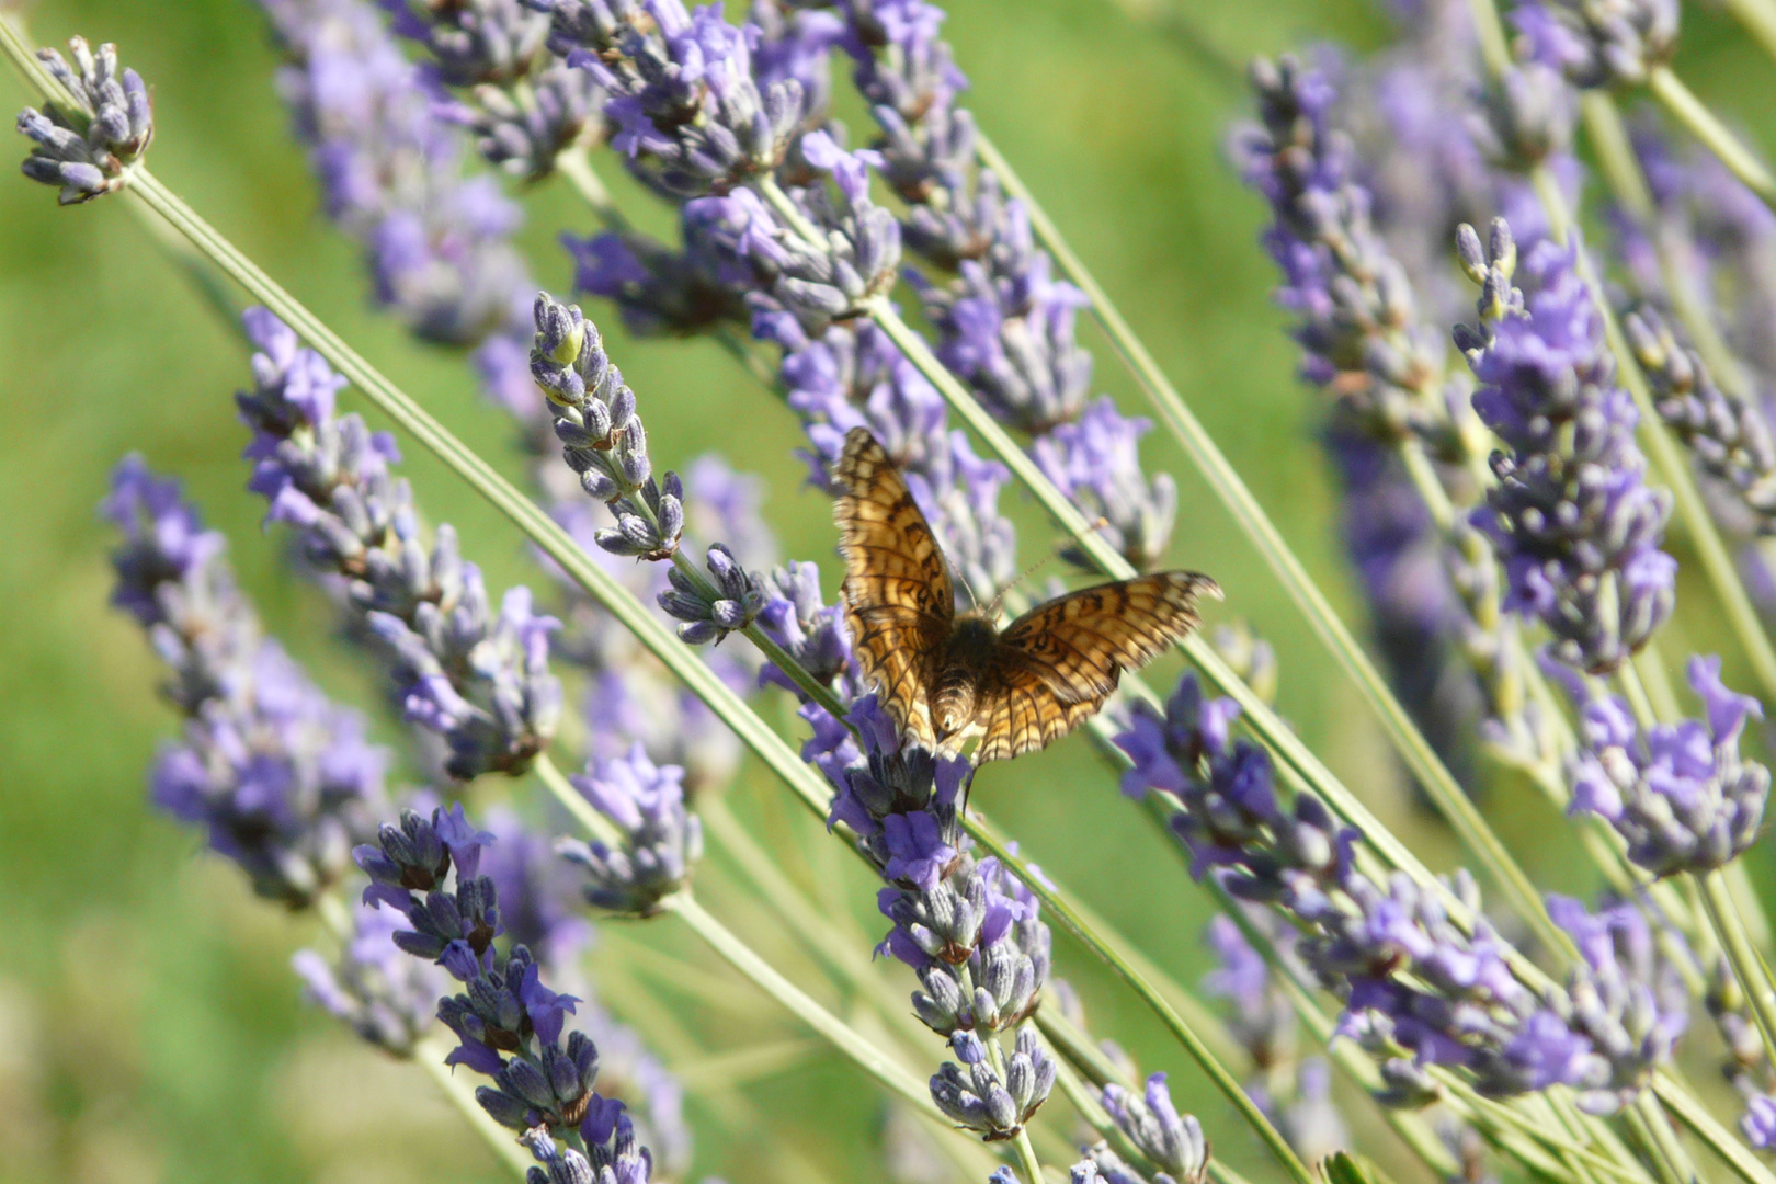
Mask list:
[[[1000,634],[980,687],[975,763],[1048,747],[1090,719],[1124,669],[1138,669],[1197,627],[1197,598],[1220,588],[1195,572],[1160,572],[1082,588],[1041,604]]]

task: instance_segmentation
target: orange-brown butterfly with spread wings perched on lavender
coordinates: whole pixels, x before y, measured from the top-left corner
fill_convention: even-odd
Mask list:
[[[852,428],[833,467],[845,623],[865,685],[900,735],[975,763],[1048,747],[1090,719],[1124,669],[1146,666],[1197,627],[1195,572],[1098,584],[1039,604],[1003,630],[993,609],[955,612],[938,540],[893,460]]]

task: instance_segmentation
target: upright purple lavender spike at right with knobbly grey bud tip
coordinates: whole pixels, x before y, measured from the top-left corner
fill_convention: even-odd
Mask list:
[[[1645,481],[1639,412],[1614,383],[1577,243],[1540,240],[1518,264],[1501,218],[1490,256],[1472,227],[1458,247],[1481,296],[1456,344],[1481,383],[1474,410],[1504,442],[1474,513],[1504,566],[1504,609],[1547,625],[1566,666],[1613,671],[1671,614],[1677,561],[1659,549],[1671,495]]]

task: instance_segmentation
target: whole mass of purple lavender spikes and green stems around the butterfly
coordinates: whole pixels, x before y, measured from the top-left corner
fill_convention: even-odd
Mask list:
[[[391,669],[408,722],[442,737],[446,772],[471,781],[535,767],[581,833],[551,841],[494,809],[494,841],[462,806],[423,797],[389,822],[384,756],[362,726],[265,641],[220,566],[218,538],[170,486],[126,463],[107,502],[126,533],[117,604],[149,630],[172,669],[167,696],[186,717],[183,742],[156,765],[156,801],[206,825],[261,895],[332,920],[334,953],[297,962],[311,998],[384,1049],[485,1077],[480,1113],[519,1133],[535,1159],[527,1179],[634,1182],[689,1170],[677,1093],[657,1062],[632,1054],[618,1074],[634,1117],[593,1090],[599,1049],[632,1038],[602,1012],[570,1026],[595,1008],[565,992],[584,994],[586,966],[604,957],[588,953],[579,898],[607,914],[686,921],[874,1086],[959,1127],[968,1140],[943,1147],[970,1179],[1039,1180],[1069,1163],[1085,1184],[1238,1180],[1209,1159],[1204,1125],[1177,1111],[1176,1070],[1140,1079],[1133,1058],[1080,1031],[1082,1012],[1053,980],[1058,920],[1158,1014],[1296,1184],[1323,1157],[1327,1179],[1371,1179],[1334,1156],[1362,1127],[1334,1108],[1328,1062],[1298,1054],[1309,1038],[1328,1044],[1330,1063],[1447,1179],[1483,1179],[1481,1141],[1556,1180],[1685,1179],[1696,1177],[1694,1140],[1748,1184],[1769,1184],[1767,1168],[1671,1072],[1701,1003],[1746,1095],[1744,1140],[1769,1147],[1776,1014],[1723,875],[1762,825],[1769,774],[1740,753],[1762,708],[1701,657],[1689,664],[1701,721],[1682,719],[1655,680],[1643,685],[1673,635],[1661,627],[1678,612],[1682,552],[1664,547],[1673,495],[1661,481],[1677,483],[1682,508],[1685,474],[1662,460],[1659,426],[1641,419],[1636,394],[1650,392],[1646,407],[1753,518],[1764,513],[1769,431],[1746,392],[1723,392],[1737,367],[1703,362],[1701,346],[1684,343],[1687,314],[1673,330],[1650,284],[1616,332],[1591,256],[1568,234],[1572,190],[1547,185],[1570,167],[1566,82],[1677,94],[1675,9],[1520,5],[1515,73],[1492,60],[1481,28],[1490,89],[1439,89],[1440,103],[1469,105],[1447,124],[1465,128],[1465,147],[1444,162],[1460,158],[1467,174],[1421,195],[1414,217],[1440,225],[1444,272],[1455,247],[1481,286],[1478,325],[1455,330],[1472,385],[1446,373],[1449,275],[1437,275],[1437,249],[1396,254],[1401,213],[1376,211],[1375,193],[1385,201],[1387,190],[1369,188],[1337,131],[1327,78],[1293,59],[1254,71],[1261,126],[1243,137],[1241,165],[1275,217],[1266,247],[1298,314],[1305,375],[1337,403],[1348,513],[1368,533],[1353,552],[1378,614],[1410,618],[1403,659],[1462,655],[1478,675],[1479,719],[1472,708],[1446,715],[1446,751],[1483,738],[1563,804],[1602,818],[1614,838],[1591,854],[1629,893],[1595,907],[1526,893],[1511,854],[1478,845],[1542,937],[1531,946],[1483,911],[1476,877],[1433,879],[1288,733],[1256,692],[1273,683],[1257,648],[1192,648],[1238,699],[1211,698],[1186,675],[1162,708],[1131,680],[1135,705],[1096,733],[1099,753],[1126,765],[1124,790],[1165,822],[1193,879],[1227,907],[1215,928],[1225,966],[1204,991],[1234,1006],[1217,1024],[1208,1012],[1185,1022],[1165,999],[1183,991],[1142,967],[1135,943],[970,811],[966,751],[929,753],[895,733],[856,673],[819,568],[773,568],[755,501],[732,469],[655,476],[641,401],[599,328],[579,307],[536,295],[510,243],[517,204],[492,178],[465,172],[472,144],[504,174],[568,176],[607,227],[568,240],[577,286],[613,300],[643,334],[714,332],[732,346],[732,330],[749,328],[760,344],[735,351],[799,419],[815,490],[831,492],[844,433],[868,426],[906,472],[957,582],[982,602],[1018,570],[1016,533],[1000,511],[1014,474],[1067,525],[1082,566],[1153,566],[1167,552],[1176,485],[1140,470],[1147,424],[1090,398],[1090,355],[1076,339],[1083,309],[1114,318],[1007,167],[977,160],[996,158],[961,107],[966,82],[938,37],[943,12],[900,0],[833,11],[760,0],[733,25],[719,7],[677,0],[265,7],[330,217],[366,249],[380,304],[421,337],[478,348],[483,378],[524,424],[547,513],[147,172],[147,89],[119,71],[114,51],[76,46],[73,67],[53,59],[34,75],[48,114],[21,121],[36,144],[25,172],[64,202],[139,197],[277,309],[247,318],[259,353],[254,387],[238,398],[254,433],[250,488],[270,501],[268,520],[295,529],[304,563],[345,609],[348,643]],[[0,43],[32,66],[4,20]],[[868,147],[847,151],[831,119],[833,50],[849,59],[876,124]],[[680,245],[634,231],[597,185],[588,149],[606,135],[614,160],[675,208]],[[1531,195],[1547,208],[1529,209]],[[1465,227],[1449,241],[1449,227],[1499,209],[1526,231],[1520,257],[1504,222],[1490,249]],[[1055,257],[1078,282],[1055,275]],[[924,309],[929,346],[893,309],[900,280]],[[339,373],[538,543],[570,635],[551,641],[556,621],[524,588],[492,611],[455,533],[421,527],[412,490],[392,472],[394,438],[336,412]],[[1160,405],[1177,430],[1176,408]],[[675,410],[646,405],[655,426]],[[984,435],[986,453],[952,430],[952,410]],[[1483,463],[1488,433],[1499,447]],[[1657,465],[1637,435],[1653,442]],[[1222,481],[1213,469],[1211,479]],[[687,538],[702,543],[700,561],[686,554]],[[622,579],[611,575],[618,561],[632,566]],[[726,639],[719,653],[705,644]],[[733,660],[746,646],[758,657]],[[579,683],[590,735],[561,726],[552,648]],[[694,706],[661,687],[662,671],[686,680]],[[1545,694],[1543,671],[1568,689],[1570,719]],[[796,721],[773,728],[741,696],[751,683],[792,691]],[[744,879],[760,891],[746,898],[725,875],[696,875],[705,825],[693,792],[710,795],[709,831],[732,843],[735,824],[714,813],[714,792],[741,744],[861,857],[888,921],[877,953],[913,971],[909,1010],[947,1056],[932,1058],[924,1031],[906,1031],[900,989],[847,969],[867,943],[842,948],[849,935],[835,937],[815,904],[842,900],[842,877],[805,884],[753,866]],[[574,749],[586,774],[554,774],[551,747]],[[1408,763],[1421,776],[1440,769],[1423,754]],[[1471,815],[1453,817],[1467,825],[1463,840],[1485,838]],[[348,875],[350,841],[371,834],[355,852],[371,888],[352,916],[330,893]],[[725,854],[744,863],[744,850]],[[1677,877],[1691,896],[1673,891]],[[781,932],[755,948],[700,904],[730,893],[735,914],[787,923],[824,948],[773,966],[765,950],[783,944],[773,941]],[[812,978],[797,985],[794,975]],[[815,998],[828,991],[868,1022],[840,1021]],[[442,1058],[433,1014],[458,1040]],[[1250,1070],[1247,1088],[1211,1046]],[[1142,1049],[1142,1060],[1163,1056]],[[700,1088],[716,1097],[719,1086]],[[1435,1127],[1408,1113],[1428,1104],[1439,1106]],[[771,1129],[792,1122],[799,1138],[801,1115]],[[511,1136],[496,1145],[510,1152]],[[993,1163],[1000,1150],[1016,1168]]]

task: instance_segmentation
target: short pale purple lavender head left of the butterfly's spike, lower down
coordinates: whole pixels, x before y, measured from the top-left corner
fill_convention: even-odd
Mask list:
[[[574,788],[623,838],[620,850],[602,841],[559,845],[568,861],[586,870],[584,893],[593,905],[648,916],[684,888],[703,854],[703,824],[686,811],[682,777],[677,765],[648,760],[639,744],[625,758],[593,760],[586,776],[574,777]]]

